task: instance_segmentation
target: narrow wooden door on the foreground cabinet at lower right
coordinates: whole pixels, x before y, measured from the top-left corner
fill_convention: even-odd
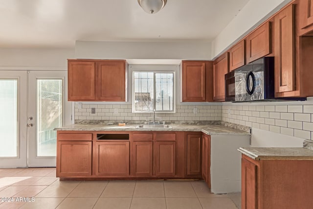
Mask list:
[[[257,165],[242,158],[241,161],[242,209],[257,208]]]

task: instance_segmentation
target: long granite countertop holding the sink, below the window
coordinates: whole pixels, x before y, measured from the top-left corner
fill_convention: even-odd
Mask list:
[[[250,135],[249,130],[240,130],[224,124],[211,125],[189,125],[171,124],[171,129],[141,129],[135,128],[138,124],[127,124],[126,126],[104,125],[104,124],[73,124],[55,128],[57,131],[194,131],[203,132],[207,135]]]

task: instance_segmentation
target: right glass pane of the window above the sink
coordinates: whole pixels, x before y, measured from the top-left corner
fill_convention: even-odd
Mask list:
[[[156,111],[173,110],[173,73],[156,73]]]

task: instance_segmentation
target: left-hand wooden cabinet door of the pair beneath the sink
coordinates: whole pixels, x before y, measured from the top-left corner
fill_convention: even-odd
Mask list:
[[[132,145],[132,176],[152,176],[152,141],[134,141]]]

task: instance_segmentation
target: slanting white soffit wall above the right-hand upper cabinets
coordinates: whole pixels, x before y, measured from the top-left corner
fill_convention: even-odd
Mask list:
[[[212,59],[291,0],[250,0],[212,42]]]

